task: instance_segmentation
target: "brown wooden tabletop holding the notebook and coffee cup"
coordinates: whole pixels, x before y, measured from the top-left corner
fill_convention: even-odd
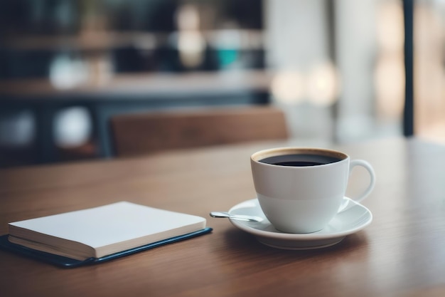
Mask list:
[[[0,170],[7,223],[128,200],[208,218],[213,233],[60,269],[0,251],[1,296],[445,296],[445,147],[417,139],[334,146],[375,167],[374,221],[326,249],[260,244],[208,213],[254,197],[249,157],[283,143]],[[360,172],[348,192],[358,191]]]

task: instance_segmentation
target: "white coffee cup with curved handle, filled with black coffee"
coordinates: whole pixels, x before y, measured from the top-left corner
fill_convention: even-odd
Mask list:
[[[311,233],[327,226],[340,210],[353,167],[365,167],[370,174],[370,184],[353,198],[356,202],[375,185],[368,162],[350,160],[336,150],[279,147],[255,152],[250,164],[262,211],[276,229],[286,233]]]

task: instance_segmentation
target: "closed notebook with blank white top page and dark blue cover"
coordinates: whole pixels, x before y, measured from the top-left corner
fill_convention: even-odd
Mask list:
[[[131,202],[9,223],[0,246],[62,266],[115,259],[208,233],[203,217]]]

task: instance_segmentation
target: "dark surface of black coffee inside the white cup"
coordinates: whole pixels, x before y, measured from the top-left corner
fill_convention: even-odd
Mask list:
[[[325,155],[311,155],[311,154],[294,154],[294,155],[280,155],[274,157],[267,157],[259,162],[279,165],[279,166],[317,166],[325,165],[333,162],[341,161],[338,157],[325,156]]]

